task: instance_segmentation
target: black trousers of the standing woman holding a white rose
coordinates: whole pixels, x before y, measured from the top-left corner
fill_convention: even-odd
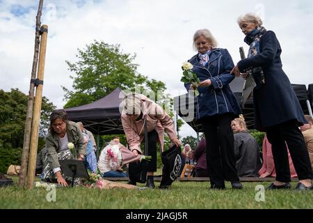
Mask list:
[[[201,118],[207,143],[207,171],[211,185],[224,185],[224,180],[239,181],[234,155],[232,115],[218,114]]]

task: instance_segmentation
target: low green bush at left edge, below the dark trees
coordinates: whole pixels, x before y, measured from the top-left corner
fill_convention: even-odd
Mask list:
[[[6,174],[10,164],[21,165],[22,148],[0,148],[0,172]]]

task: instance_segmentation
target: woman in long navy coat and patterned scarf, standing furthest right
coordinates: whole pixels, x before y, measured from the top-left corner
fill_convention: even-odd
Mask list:
[[[239,61],[232,72],[237,77],[240,73],[244,78],[247,73],[255,77],[255,127],[266,131],[268,141],[272,144],[277,172],[275,182],[268,189],[291,187],[286,141],[300,180],[296,190],[312,190],[310,157],[303,134],[298,129],[306,121],[296,93],[282,70],[280,43],[273,31],[264,29],[262,20],[256,15],[248,13],[239,17],[238,24],[246,35],[244,41],[250,45],[250,49],[248,58]]]

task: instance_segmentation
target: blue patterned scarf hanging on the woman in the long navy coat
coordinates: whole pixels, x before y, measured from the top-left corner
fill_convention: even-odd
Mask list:
[[[247,34],[244,41],[245,43],[250,45],[248,58],[250,56],[256,56],[257,54],[259,54],[259,40],[265,32],[266,29],[261,26],[253,29],[252,31],[250,31],[250,33]],[[252,75],[252,77],[255,79],[256,89],[259,89],[262,84],[264,84],[264,73],[262,67],[252,68],[252,70],[248,71],[248,74]]]

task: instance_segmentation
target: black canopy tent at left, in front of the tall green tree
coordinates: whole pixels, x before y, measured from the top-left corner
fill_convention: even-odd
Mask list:
[[[65,109],[71,121],[81,121],[84,127],[97,134],[97,145],[99,147],[99,136],[103,134],[124,134],[120,119],[120,103],[125,93],[117,88],[104,98]]]

